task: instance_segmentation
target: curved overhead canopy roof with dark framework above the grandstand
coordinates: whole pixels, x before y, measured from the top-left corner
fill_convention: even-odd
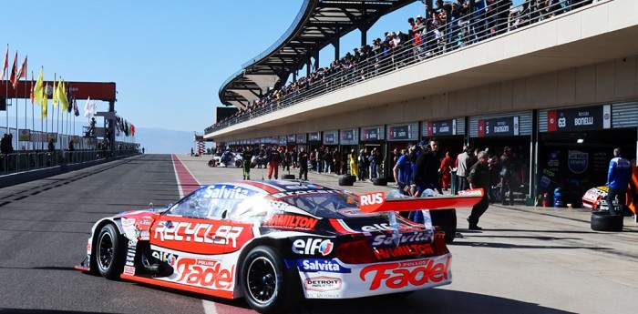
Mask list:
[[[381,16],[416,0],[304,0],[293,24],[282,37],[259,56],[242,65],[220,87],[221,103],[243,108],[265,94],[268,87],[285,82],[312,56],[336,39],[362,29]]]

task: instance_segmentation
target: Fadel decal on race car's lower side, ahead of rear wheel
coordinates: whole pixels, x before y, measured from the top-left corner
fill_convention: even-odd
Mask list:
[[[219,260],[179,258],[175,265],[177,282],[210,289],[232,289],[235,266],[222,268]]]

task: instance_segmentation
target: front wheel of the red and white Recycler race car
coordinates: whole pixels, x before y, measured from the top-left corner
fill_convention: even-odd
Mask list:
[[[96,249],[91,256],[95,258],[95,265],[102,277],[109,280],[119,279],[124,268],[127,244],[119,235],[114,225],[102,227],[98,233]]]

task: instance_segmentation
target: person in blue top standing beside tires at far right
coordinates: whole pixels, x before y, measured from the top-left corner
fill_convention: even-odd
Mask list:
[[[607,172],[607,206],[610,215],[623,215],[624,204],[626,202],[627,184],[632,177],[632,165],[629,160],[621,157],[623,150],[621,147],[613,149],[613,158],[609,162]],[[618,212],[613,209],[613,200],[618,199]]]

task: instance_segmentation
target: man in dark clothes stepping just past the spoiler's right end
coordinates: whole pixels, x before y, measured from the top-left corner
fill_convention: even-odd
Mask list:
[[[482,230],[478,227],[478,218],[480,218],[489,207],[489,167],[488,152],[481,150],[478,152],[478,162],[469,168],[468,181],[469,188],[483,188],[483,198],[478,201],[477,205],[472,208],[472,212],[468,217],[470,230]]]

